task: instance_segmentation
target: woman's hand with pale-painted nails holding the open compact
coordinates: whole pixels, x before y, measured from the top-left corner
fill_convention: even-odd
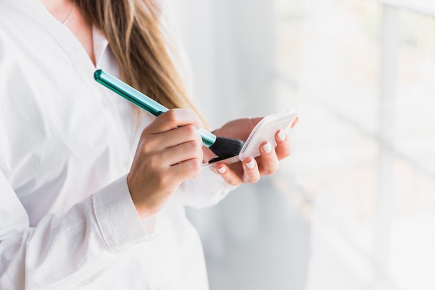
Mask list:
[[[229,137],[234,139],[246,140],[254,126],[263,119],[245,118],[237,119],[226,123],[222,128],[215,131],[215,135],[220,137]],[[295,119],[293,126],[297,123]],[[217,171],[226,182],[231,185],[240,185],[242,183],[255,183],[262,176],[268,176],[279,169],[279,160],[283,160],[291,153],[290,139],[279,130],[274,135],[277,146],[273,148],[270,142],[263,142],[260,145],[260,156],[246,157],[243,162],[234,164],[223,164],[216,162],[215,171]],[[206,153],[208,154],[208,153]]]

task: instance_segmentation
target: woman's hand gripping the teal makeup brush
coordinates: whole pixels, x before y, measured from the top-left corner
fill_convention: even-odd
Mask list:
[[[203,160],[197,114],[169,110],[140,135],[127,175],[131,198],[142,219],[159,212],[183,180],[199,175]]]

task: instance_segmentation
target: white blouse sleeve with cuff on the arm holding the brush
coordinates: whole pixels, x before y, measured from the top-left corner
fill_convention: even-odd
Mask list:
[[[0,201],[0,289],[69,289],[152,239],[125,176],[35,228],[1,170]]]

